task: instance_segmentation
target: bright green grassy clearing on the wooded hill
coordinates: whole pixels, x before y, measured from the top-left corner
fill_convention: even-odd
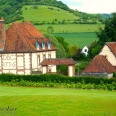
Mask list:
[[[72,13],[69,13],[66,10],[46,5],[26,5],[23,6],[22,12],[24,20],[29,19],[33,23],[58,23],[62,22],[63,20],[70,22],[75,18],[79,19],[79,17],[75,16]]]

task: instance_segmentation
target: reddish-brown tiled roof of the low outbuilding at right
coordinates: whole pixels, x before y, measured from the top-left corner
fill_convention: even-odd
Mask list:
[[[85,68],[83,73],[112,73],[115,72],[114,67],[103,55],[97,55]]]

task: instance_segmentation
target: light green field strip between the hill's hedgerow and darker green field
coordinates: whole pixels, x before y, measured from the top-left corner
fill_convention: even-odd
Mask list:
[[[103,28],[103,24],[66,24],[66,25],[35,25],[40,31],[47,31],[52,26],[54,33],[80,33],[80,32],[96,32],[99,28]]]

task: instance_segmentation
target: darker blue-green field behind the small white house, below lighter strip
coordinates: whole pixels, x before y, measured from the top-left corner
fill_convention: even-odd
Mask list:
[[[63,37],[69,45],[76,44],[78,48],[83,48],[98,40],[95,33],[56,33],[54,35]]]

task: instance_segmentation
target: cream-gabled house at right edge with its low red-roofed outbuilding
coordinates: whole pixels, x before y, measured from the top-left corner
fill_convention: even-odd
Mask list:
[[[99,55],[95,56],[82,74],[111,78],[114,72],[116,72],[116,42],[106,42]]]

